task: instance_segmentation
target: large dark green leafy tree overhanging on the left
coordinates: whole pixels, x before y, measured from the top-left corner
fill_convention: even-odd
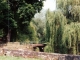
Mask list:
[[[25,35],[29,33],[30,21],[34,14],[42,9],[43,1],[0,0],[0,29],[3,29],[8,41],[16,40],[19,33]]]

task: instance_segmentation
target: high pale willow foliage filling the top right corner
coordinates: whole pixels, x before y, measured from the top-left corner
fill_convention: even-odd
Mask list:
[[[56,0],[57,9],[67,17],[68,22],[80,22],[80,0]]]

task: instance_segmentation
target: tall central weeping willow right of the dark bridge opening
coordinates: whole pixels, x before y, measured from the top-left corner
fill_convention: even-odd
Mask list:
[[[51,52],[63,53],[62,34],[67,20],[60,11],[46,13],[46,40]]]

